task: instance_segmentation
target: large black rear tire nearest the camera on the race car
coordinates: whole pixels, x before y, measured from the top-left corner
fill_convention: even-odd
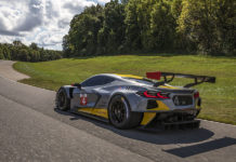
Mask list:
[[[109,122],[117,129],[132,129],[140,125],[143,113],[133,112],[122,95],[115,95],[108,106]]]

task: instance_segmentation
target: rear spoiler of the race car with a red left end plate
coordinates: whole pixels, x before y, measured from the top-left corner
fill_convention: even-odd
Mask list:
[[[146,78],[148,79],[155,79],[155,80],[160,80],[160,78],[163,77],[163,81],[157,82],[154,84],[154,86],[159,86],[163,85],[165,83],[169,83],[173,81],[173,79],[176,78],[189,78],[194,79],[194,83],[188,83],[184,85],[184,87],[191,87],[204,82],[209,82],[209,83],[215,83],[215,77],[209,77],[209,76],[195,76],[195,75],[184,75],[184,73],[173,73],[173,72],[146,72]],[[170,78],[170,79],[168,79]]]

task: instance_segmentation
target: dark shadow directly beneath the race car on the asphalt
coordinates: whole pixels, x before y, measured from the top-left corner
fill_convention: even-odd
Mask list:
[[[93,120],[83,116],[75,114],[71,112],[61,111],[58,109],[54,109],[57,113],[71,117],[70,120],[86,120],[89,121],[100,127],[109,130],[117,135],[126,138],[131,138],[135,140],[141,140],[145,143],[152,143],[156,145],[167,145],[167,144],[192,144],[199,143],[206,140],[214,135],[213,132],[200,127],[195,130],[175,130],[175,131],[149,131],[145,129],[133,129],[133,130],[118,130],[110,124],[105,122]],[[90,134],[100,137],[99,133],[94,133],[94,130],[87,129]],[[101,135],[102,137],[102,135]],[[104,138],[104,134],[103,134]]]

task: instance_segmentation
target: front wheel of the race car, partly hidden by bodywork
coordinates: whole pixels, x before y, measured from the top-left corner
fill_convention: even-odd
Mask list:
[[[70,108],[70,99],[66,95],[66,90],[61,87],[56,93],[56,108],[66,111]]]

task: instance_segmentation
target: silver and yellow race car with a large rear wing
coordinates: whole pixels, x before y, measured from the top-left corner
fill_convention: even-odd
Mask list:
[[[194,82],[184,86],[168,84],[174,78]],[[146,72],[146,77],[102,73],[61,86],[55,105],[60,110],[106,120],[118,129],[198,127],[201,98],[191,87],[202,82],[214,83],[215,78],[160,71]]]

